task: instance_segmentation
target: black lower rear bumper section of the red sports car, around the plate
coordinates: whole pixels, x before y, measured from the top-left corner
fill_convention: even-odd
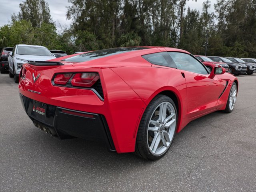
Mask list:
[[[46,104],[46,117],[44,120],[32,113],[32,99],[20,94],[22,106],[30,119],[39,128],[46,128],[50,134],[60,139],[82,138],[97,142],[104,142],[108,150],[115,151],[115,146],[105,117],[102,114],[94,114],[76,110],[70,110],[58,106]],[[47,132],[47,131],[46,131]]]

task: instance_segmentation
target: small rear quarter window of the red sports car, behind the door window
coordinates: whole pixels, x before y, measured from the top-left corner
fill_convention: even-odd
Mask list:
[[[148,55],[143,55],[142,57],[148,62],[155,65],[177,68],[174,61],[170,58],[167,52],[152,53]]]

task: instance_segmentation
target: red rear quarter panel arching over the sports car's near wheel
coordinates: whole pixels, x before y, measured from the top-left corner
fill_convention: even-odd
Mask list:
[[[186,81],[181,72],[175,68],[152,67],[125,67],[111,68],[122,78],[142,99],[146,106],[163,91],[174,93],[178,99],[178,128],[179,132],[187,123],[187,93]],[[145,110],[145,109],[144,109]],[[143,110],[143,112],[144,112]],[[140,117],[141,118],[141,117]],[[136,132],[138,125],[136,127]]]

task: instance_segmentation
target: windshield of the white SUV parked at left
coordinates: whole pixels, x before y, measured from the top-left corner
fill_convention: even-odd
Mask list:
[[[52,56],[51,52],[45,47],[18,46],[17,54],[19,55],[38,55]]]

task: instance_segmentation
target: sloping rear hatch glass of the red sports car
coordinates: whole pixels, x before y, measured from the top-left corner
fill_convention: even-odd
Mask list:
[[[136,51],[136,50],[142,50],[142,49],[148,49],[146,47],[123,47],[123,48],[112,48],[112,49],[103,49],[98,51],[92,51],[84,54],[80,54],[77,56],[73,56],[70,58],[66,58],[62,61],[67,62],[85,62],[90,61],[94,59],[99,59],[107,56],[112,56],[116,54],[126,53],[130,51]]]

